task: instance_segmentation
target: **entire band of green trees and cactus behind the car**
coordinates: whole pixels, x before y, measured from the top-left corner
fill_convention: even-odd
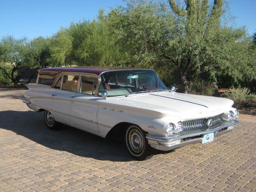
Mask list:
[[[210,95],[221,87],[256,92],[255,34],[221,22],[224,0],[127,0],[99,10],[97,19],[71,23],[49,38],[11,36],[0,42],[0,73],[17,82],[22,67],[116,66],[155,69],[166,86]],[[253,40],[252,40],[253,39]],[[205,90],[204,90],[205,89]]]

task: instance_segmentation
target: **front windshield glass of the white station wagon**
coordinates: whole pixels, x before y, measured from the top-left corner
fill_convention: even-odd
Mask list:
[[[101,74],[99,95],[102,91],[108,96],[121,96],[139,92],[167,90],[153,70],[120,70]]]

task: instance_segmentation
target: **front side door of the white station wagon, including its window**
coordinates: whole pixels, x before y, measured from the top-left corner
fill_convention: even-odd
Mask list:
[[[70,118],[72,126],[97,134],[98,97],[95,90],[98,83],[97,75],[81,75],[80,86],[75,97],[71,98]]]

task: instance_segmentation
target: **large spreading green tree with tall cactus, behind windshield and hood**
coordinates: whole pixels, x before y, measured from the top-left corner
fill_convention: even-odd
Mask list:
[[[126,7],[110,12],[127,63],[155,68],[164,80],[180,83],[183,91],[202,80],[239,87],[253,79],[245,29],[221,23],[226,11],[222,0],[212,5],[207,0],[170,0],[168,5],[127,1]]]

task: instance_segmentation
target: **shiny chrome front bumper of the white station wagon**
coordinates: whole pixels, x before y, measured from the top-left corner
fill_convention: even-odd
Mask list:
[[[150,144],[153,148],[161,151],[170,151],[188,144],[202,143],[204,135],[208,133],[214,133],[214,138],[216,138],[222,134],[232,131],[234,129],[234,125],[238,123],[238,120],[232,120],[219,124],[216,127],[212,127],[207,131],[190,133],[181,136],[172,135],[169,137],[158,137],[156,135],[148,134],[146,138],[148,140],[148,144]]]

